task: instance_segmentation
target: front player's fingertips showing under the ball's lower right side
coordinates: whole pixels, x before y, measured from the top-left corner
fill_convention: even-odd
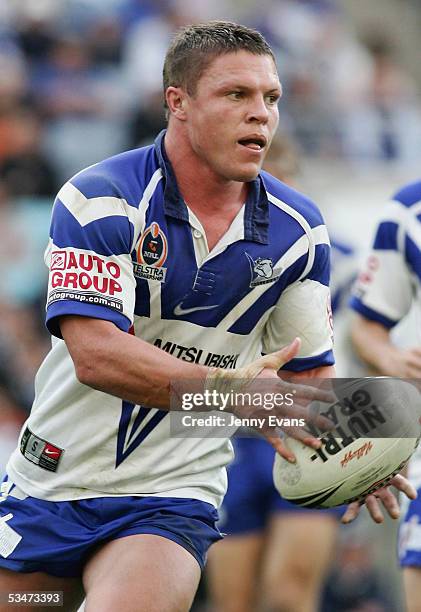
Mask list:
[[[417,498],[417,492],[409,480],[404,478],[401,474],[398,474],[392,478],[387,487],[382,487],[376,491],[376,493],[367,495],[364,500],[367,510],[375,523],[383,523],[384,520],[381,504],[384,506],[384,508],[386,508],[386,511],[391,518],[398,519],[400,516],[398,500],[390,490],[391,485],[396,487],[396,489],[399,491],[402,491],[402,493],[404,493],[409,499]],[[359,515],[360,509],[360,502],[353,502],[352,504],[349,504],[341,519],[341,522],[344,524],[351,523]]]

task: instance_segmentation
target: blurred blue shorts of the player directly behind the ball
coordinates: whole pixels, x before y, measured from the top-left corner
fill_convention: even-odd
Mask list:
[[[235,458],[228,466],[228,492],[219,511],[219,529],[228,535],[262,531],[275,513],[325,513],[340,518],[344,507],[300,508],[282,499],[273,484],[275,450],[263,438],[232,440]]]

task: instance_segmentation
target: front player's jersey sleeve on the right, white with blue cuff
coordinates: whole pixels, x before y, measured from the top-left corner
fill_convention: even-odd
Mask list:
[[[271,353],[299,336],[298,357],[285,370],[302,372],[334,364],[330,304],[330,245],[326,227],[317,226],[309,238],[309,261],[302,277],[288,286],[272,311],[263,337],[263,352]]]

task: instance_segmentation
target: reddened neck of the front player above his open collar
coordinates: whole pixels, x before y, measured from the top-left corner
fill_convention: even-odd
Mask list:
[[[247,183],[218,177],[191,149],[183,134],[168,130],[165,151],[184,201],[200,218],[212,212],[235,216],[247,198]]]

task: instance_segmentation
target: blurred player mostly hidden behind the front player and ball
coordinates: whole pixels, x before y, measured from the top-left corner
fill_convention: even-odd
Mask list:
[[[293,184],[296,146],[278,133],[264,169]],[[339,309],[354,278],[353,249],[332,241],[332,305]],[[233,440],[228,492],[219,528],[227,536],[209,553],[208,585],[217,612],[314,612],[335,547],[343,509],[308,510],[276,491],[274,453],[265,440],[243,432]]]

